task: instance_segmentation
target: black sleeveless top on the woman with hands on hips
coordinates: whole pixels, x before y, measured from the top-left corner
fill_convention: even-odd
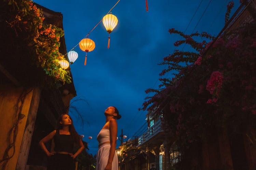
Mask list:
[[[59,130],[56,130],[53,140],[55,152],[73,152],[75,140],[72,135],[59,134]]]

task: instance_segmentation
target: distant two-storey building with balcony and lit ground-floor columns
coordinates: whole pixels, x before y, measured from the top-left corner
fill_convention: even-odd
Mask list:
[[[171,165],[180,161],[180,152],[168,138],[161,127],[161,115],[149,112],[147,115],[147,130],[138,137],[138,148],[146,152],[146,156],[155,155],[155,160],[146,159],[146,170],[154,164],[156,169],[169,170]]]

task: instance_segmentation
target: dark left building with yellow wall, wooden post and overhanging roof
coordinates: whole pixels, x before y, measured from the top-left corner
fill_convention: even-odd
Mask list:
[[[31,51],[26,46],[23,48],[23,38],[29,33],[17,34],[6,23],[10,6],[8,2],[1,2],[0,6],[4,17],[0,21],[3,26],[0,39],[5,42],[0,48],[0,167],[2,170],[46,169],[47,156],[38,142],[56,128],[59,115],[68,113],[76,91],[73,81],[60,82],[58,88],[44,86],[52,80],[42,69],[31,65]],[[45,24],[63,29],[61,13],[36,6],[43,10]],[[67,53],[64,37],[60,38],[59,51]],[[51,142],[47,143],[49,150],[51,146]]]

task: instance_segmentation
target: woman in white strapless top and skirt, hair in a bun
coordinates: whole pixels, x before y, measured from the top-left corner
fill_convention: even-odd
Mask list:
[[[121,115],[116,107],[108,107],[104,115],[106,123],[100,130],[97,140],[99,150],[97,153],[96,170],[118,170],[118,158],[116,154],[117,122]]]

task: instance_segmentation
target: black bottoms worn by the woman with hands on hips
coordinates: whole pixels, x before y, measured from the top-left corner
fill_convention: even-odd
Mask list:
[[[74,170],[75,162],[71,155],[55,153],[50,157],[47,170]]]

